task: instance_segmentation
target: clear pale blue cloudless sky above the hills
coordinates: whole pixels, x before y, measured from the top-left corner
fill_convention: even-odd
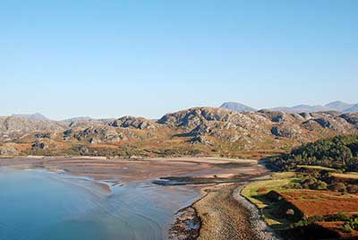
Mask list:
[[[0,1],[0,116],[358,102],[358,1]]]

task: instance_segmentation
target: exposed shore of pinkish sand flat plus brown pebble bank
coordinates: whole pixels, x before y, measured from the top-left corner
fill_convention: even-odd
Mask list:
[[[168,229],[169,239],[277,239],[262,238],[260,229],[253,230],[251,218],[253,210],[240,199],[243,184],[257,176],[267,174],[256,160],[215,159],[215,158],[175,158],[175,159],[104,159],[104,158],[14,158],[3,159],[0,167],[39,168],[49,171],[63,170],[72,176],[88,176],[93,182],[106,184],[127,184],[150,181],[162,176],[190,176],[192,179],[217,179],[239,177],[238,183],[226,184],[185,184],[200,189],[197,201],[174,217],[174,225]],[[112,179],[112,182],[109,182]],[[108,182],[107,182],[108,181]],[[110,183],[110,184],[109,184]],[[213,210],[214,209],[214,210]],[[176,225],[177,220],[181,220]],[[169,225],[170,223],[168,223]],[[260,238],[259,238],[259,237]]]

